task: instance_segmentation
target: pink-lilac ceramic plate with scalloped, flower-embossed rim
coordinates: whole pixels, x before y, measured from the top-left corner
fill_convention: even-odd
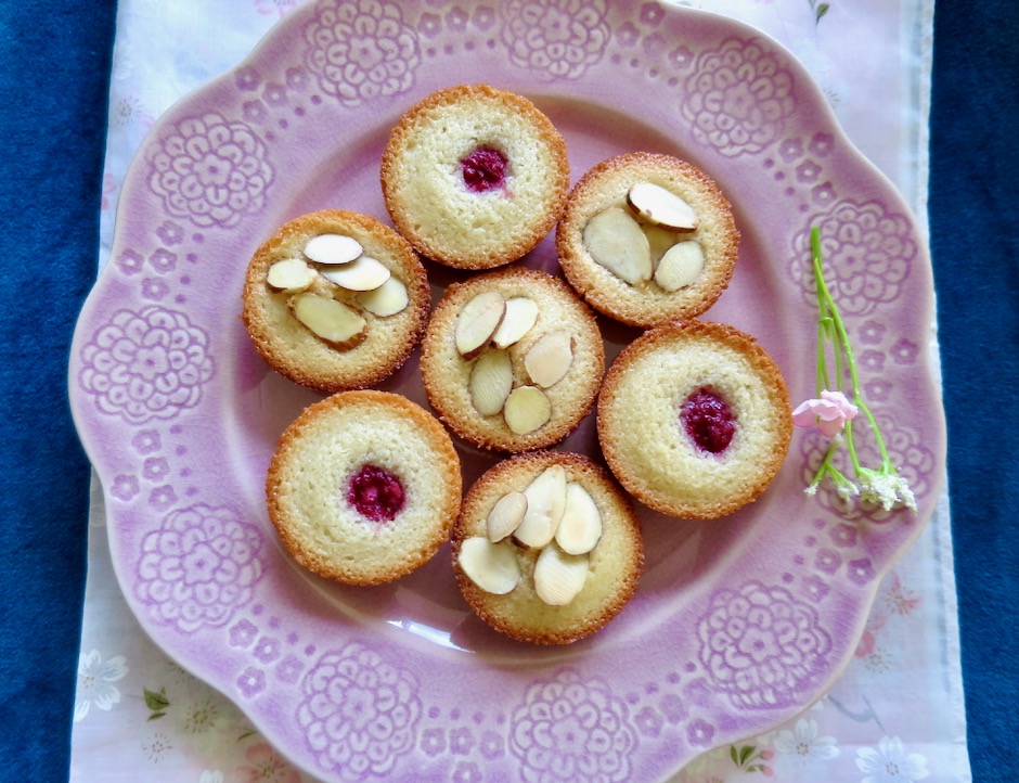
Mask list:
[[[805,497],[822,444],[800,432],[771,489],[735,516],[642,512],[637,595],[565,649],[482,626],[446,551],[376,589],[296,567],[269,525],[262,480],[276,436],[314,396],[248,344],[245,265],[305,211],[386,218],[377,169],[390,127],[457,81],[536,101],[566,137],[575,179],[637,149],[713,175],[744,239],[707,317],[758,336],[795,399],[814,390],[808,231],[820,226],[864,387],[919,513],[842,509],[827,489]],[[551,242],[526,262],[554,270]],[[430,272],[438,292],[449,273]],[[323,0],[149,136],[78,324],[72,398],[142,626],[308,772],[657,781],[821,696],[881,576],[929,517],[944,459],[931,292],[903,202],[807,73],[752,29],[654,2]],[[633,333],[603,325],[615,356]],[[386,387],[424,401],[416,354]],[[592,422],[562,448],[593,452]],[[493,461],[463,455],[467,483]]]

